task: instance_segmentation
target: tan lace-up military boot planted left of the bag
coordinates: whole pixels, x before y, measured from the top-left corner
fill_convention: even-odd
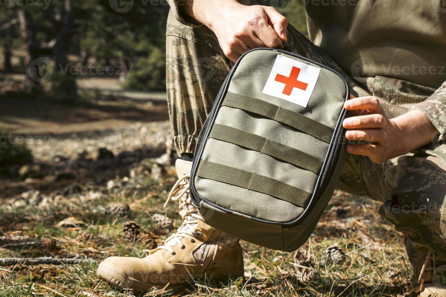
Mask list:
[[[145,292],[184,289],[194,281],[227,282],[243,277],[239,240],[204,223],[189,195],[192,162],[177,160],[178,182],[169,200],[178,200],[183,224],[143,259],[109,257],[98,267],[98,275],[121,289]],[[165,205],[166,205],[165,204]]]

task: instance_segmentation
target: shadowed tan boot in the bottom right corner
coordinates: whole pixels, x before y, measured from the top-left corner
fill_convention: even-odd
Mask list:
[[[413,266],[411,283],[414,293],[422,297],[446,297],[446,259],[432,249],[405,237],[406,251]]]

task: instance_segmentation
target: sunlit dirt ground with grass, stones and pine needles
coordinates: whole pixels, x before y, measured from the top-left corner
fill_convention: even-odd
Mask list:
[[[143,257],[181,224],[178,205],[162,207],[176,181],[165,94],[100,83],[98,98],[76,105],[0,99],[0,130],[30,135],[33,155],[32,163],[8,168],[0,179],[0,258],[78,262],[0,265],[0,296],[131,296],[131,290],[118,291],[95,275],[99,262]],[[99,81],[80,84],[95,91]],[[198,282],[180,294],[407,296],[412,269],[402,236],[377,215],[379,206],[335,192],[299,250],[311,255],[308,278],[297,273],[294,253],[242,242],[244,280]],[[173,224],[157,224],[153,214]],[[140,227],[132,240],[123,230],[129,221]],[[324,256],[333,245],[345,254],[336,263]],[[175,294],[153,290],[146,296]]]

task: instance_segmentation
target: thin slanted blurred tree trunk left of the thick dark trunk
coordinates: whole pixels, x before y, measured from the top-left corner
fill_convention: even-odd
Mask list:
[[[20,25],[20,34],[25,43],[25,67],[26,67],[26,79],[25,79],[25,91],[29,93],[40,93],[42,87],[37,79],[37,71],[32,67],[29,67],[31,62],[36,58],[34,55],[34,34],[33,24],[29,17],[28,12],[23,9],[17,10],[17,19]]]

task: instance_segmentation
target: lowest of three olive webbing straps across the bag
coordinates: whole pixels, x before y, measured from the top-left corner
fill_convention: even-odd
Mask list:
[[[311,197],[310,193],[279,180],[205,160],[200,161],[196,175],[204,179],[229,183],[237,187],[271,195],[299,207],[306,207],[307,201]]]

